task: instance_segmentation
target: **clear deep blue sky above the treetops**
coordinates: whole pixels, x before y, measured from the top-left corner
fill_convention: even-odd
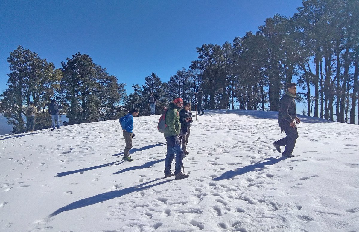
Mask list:
[[[197,59],[196,47],[256,32],[275,14],[293,16],[301,0],[13,1],[0,0],[0,94],[6,59],[18,45],[56,68],[88,54],[119,83],[163,82]]]

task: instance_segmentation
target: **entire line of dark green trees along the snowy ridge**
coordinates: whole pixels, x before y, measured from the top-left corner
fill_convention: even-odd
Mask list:
[[[285,83],[296,81],[305,90],[299,91],[297,100],[306,102],[308,115],[332,121],[336,116],[338,122],[349,119],[354,124],[359,101],[359,1],[303,0],[293,17],[274,15],[258,29],[232,43],[203,44],[190,69],[182,68],[168,82],[151,73],[143,86],[133,85],[128,96],[126,84],[118,83],[87,54],[76,53],[56,69],[18,46],[8,58],[8,88],[0,96],[0,114],[13,125],[13,132],[25,130],[24,106],[29,101],[39,111],[35,129],[50,127],[47,105],[52,97],[64,105],[68,124],[117,119],[132,107],[148,115],[150,92],[157,98],[157,112],[176,97],[191,102],[193,110],[199,88],[205,109],[278,111]]]

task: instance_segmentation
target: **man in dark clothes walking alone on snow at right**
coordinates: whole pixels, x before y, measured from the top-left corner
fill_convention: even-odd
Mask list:
[[[296,123],[299,124],[300,120],[297,117],[297,110],[295,107],[295,95],[297,87],[295,83],[286,84],[287,92],[279,101],[278,124],[280,130],[285,132],[286,137],[278,141],[274,141],[275,149],[281,153],[280,147],[285,146],[283,156],[293,157],[295,141],[298,139],[298,130]]]

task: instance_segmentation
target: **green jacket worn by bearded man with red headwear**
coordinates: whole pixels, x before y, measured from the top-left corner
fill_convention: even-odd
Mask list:
[[[180,122],[180,111],[174,103],[168,105],[168,110],[166,113],[166,129],[164,130],[164,136],[176,136],[180,134],[181,131],[181,122]]]

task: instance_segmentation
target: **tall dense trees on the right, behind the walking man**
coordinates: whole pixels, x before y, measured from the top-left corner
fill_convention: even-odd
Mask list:
[[[307,114],[354,124],[358,100],[359,1],[304,0],[293,17],[274,15],[233,43],[204,44],[199,71],[210,109],[278,111],[285,83],[306,90]],[[267,107],[266,107],[267,106]],[[314,112],[312,114],[312,108]],[[359,111],[358,111],[359,113]]]

